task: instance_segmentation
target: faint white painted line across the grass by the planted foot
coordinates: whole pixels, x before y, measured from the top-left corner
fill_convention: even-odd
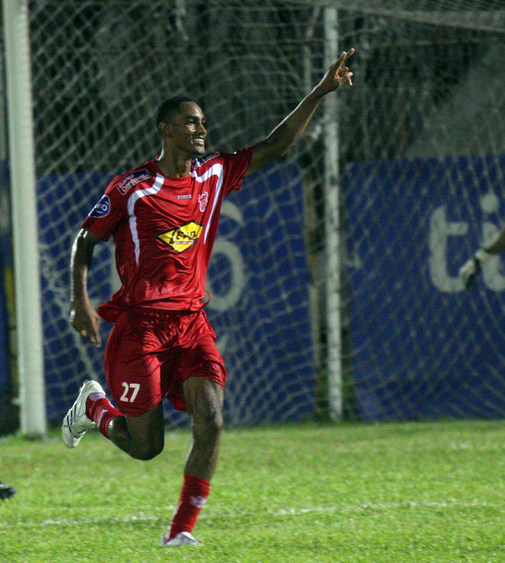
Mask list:
[[[332,506],[319,506],[319,507],[307,507],[307,508],[283,508],[281,510],[267,510],[266,514],[270,517],[297,517],[303,516],[304,514],[314,514],[314,513],[328,513],[328,512],[338,512],[339,514],[349,514],[350,512],[359,511],[388,511],[388,510],[398,510],[402,508],[415,509],[415,508],[482,508],[482,507],[492,507],[497,508],[501,512],[505,512],[505,505],[493,504],[491,502],[480,502],[478,500],[470,500],[468,502],[459,502],[457,500],[448,500],[441,502],[432,501],[416,501],[416,500],[406,500],[404,502],[364,502],[363,505],[332,505]],[[39,522],[35,521],[18,521],[15,524],[8,524],[7,526],[0,526],[0,531],[15,529],[15,528],[39,528],[45,526],[85,526],[87,524],[135,524],[136,522],[164,522],[168,523],[170,519],[171,511],[174,507],[167,507],[167,516],[159,517],[153,514],[144,514],[140,512],[139,514],[132,514],[131,516],[125,516],[123,518],[115,517],[99,517],[99,518],[82,518],[82,519],[48,519]],[[206,513],[201,514],[200,519],[214,519],[214,518],[240,518],[246,516],[254,516],[257,512],[216,512],[216,513]]]

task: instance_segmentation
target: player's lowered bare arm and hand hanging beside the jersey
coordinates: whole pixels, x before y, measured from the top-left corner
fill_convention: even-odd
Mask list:
[[[80,229],[75,237],[70,257],[70,323],[77,332],[96,346],[101,345],[99,317],[89,301],[87,280],[94,247],[99,241],[101,239],[91,231]]]

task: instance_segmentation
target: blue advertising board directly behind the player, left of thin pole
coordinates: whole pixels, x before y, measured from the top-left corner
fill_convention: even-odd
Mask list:
[[[226,198],[208,270],[206,310],[227,366],[225,419],[232,424],[302,419],[316,403],[301,174],[290,164],[262,172]],[[37,186],[51,422],[63,417],[80,381],[104,382],[104,344],[85,343],[68,324],[68,260],[80,223],[110,177],[53,175]],[[89,283],[95,305],[113,291],[112,250],[96,247]],[[110,329],[101,323],[104,342]],[[166,415],[175,424],[187,420],[171,408]]]

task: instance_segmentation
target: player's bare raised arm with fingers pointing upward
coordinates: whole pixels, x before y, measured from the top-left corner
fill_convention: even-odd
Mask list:
[[[253,147],[251,164],[247,174],[283,156],[305,131],[314,112],[326,94],[335,91],[342,84],[352,86],[353,73],[346,66],[347,59],[354,55],[354,49],[342,53],[339,60],[330,66],[328,72],[294,110],[289,113],[268,137]]]

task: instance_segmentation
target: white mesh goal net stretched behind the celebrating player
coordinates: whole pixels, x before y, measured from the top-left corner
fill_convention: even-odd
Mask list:
[[[103,350],[68,324],[71,243],[108,179],[156,156],[158,102],[191,94],[210,123],[210,148],[234,151],[268,134],[322,75],[328,53],[350,46],[354,88],[325,101],[337,103],[334,113],[319,110],[287,158],[223,207],[208,312],[229,374],[227,421],[326,412],[335,330],[345,417],[505,414],[501,261],[473,293],[456,276],[504,211],[504,9],[337,4],[30,2],[52,422],[82,379],[104,378]],[[336,322],[326,306],[331,189]],[[90,279],[94,303],[105,301],[116,286],[111,246],[96,248]],[[185,421],[171,410],[167,418]]]

